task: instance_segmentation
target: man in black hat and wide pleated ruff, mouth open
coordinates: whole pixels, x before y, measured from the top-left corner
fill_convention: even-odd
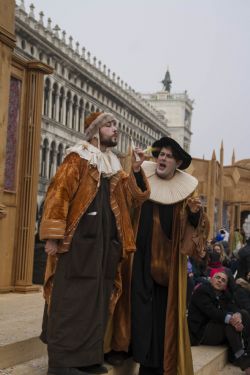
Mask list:
[[[142,168],[151,194],[140,213],[132,273],[132,350],[139,375],[193,374],[186,322],[187,255],[205,247],[208,221],[191,156],[172,138],[152,145]],[[178,370],[177,370],[178,369]]]

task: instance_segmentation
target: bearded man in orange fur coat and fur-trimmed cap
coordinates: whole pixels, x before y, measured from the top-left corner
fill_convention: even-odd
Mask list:
[[[122,262],[136,248],[130,209],[149,196],[143,152],[136,150],[130,175],[112,152],[115,117],[92,113],[85,129],[85,141],[67,150],[50,183],[40,225],[48,254],[41,334],[48,375],[107,372],[101,364],[109,312],[126,292]]]

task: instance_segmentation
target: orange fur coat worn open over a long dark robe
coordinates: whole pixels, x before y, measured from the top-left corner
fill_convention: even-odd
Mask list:
[[[143,174],[143,171],[141,172]],[[137,186],[134,174],[128,175],[119,171],[110,178],[110,205],[114,213],[118,235],[123,248],[123,258],[135,251],[135,236],[130,219],[130,209],[140,207],[148,199],[150,191],[146,177],[143,175],[147,190]],[[40,225],[40,238],[57,239],[57,256],[48,256],[44,295],[50,302],[53,275],[57,257],[69,251],[70,244],[80,218],[86,212],[98,191],[99,172],[88,165],[88,161],[76,153],[69,154],[58,168],[46,195],[43,217]],[[115,279],[115,291],[111,298],[110,309],[122,293],[121,264]]]

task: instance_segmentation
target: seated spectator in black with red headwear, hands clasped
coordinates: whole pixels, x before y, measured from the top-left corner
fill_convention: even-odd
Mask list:
[[[192,345],[226,343],[235,364],[249,375],[250,356],[242,344],[242,336],[249,342],[250,318],[233,302],[227,284],[227,274],[217,269],[210,282],[200,285],[193,293],[188,312],[190,340]]]

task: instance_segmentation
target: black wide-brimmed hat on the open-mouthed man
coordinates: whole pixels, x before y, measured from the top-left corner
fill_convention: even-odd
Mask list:
[[[155,158],[158,158],[161,149],[163,147],[168,147],[168,146],[170,146],[173,149],[175,154],[178,156],[178,159],[182,160],[182,163],[179,166],[179,169],[186,169],[190,165],[192,158],[185,150],[183,150],[183,148],[179,145],[179,143],[177,143],[173,138],[162,137],[158,141],[155,141],[152,144],[152,148],[153,148],[152,155]]]

